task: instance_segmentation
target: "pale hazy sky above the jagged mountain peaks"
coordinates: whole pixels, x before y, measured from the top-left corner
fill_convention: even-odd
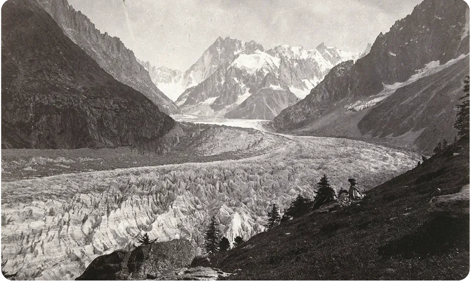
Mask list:
[[[421,0],[69,0],[138,59],[181,71],[218,36],[265,49],[321,42],[363,51]]]

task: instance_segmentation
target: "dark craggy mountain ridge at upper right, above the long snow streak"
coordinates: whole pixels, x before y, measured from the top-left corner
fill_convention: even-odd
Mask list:
[[[427,68],[430,64],[444,64],[469,53],[467,21],[469,7],[465,2],[456,1],[449,5],[449,2],[443,0],[423,1],[410,15],[396,21],[388,33],[380,34],[368,55],[356,63],[347,62],[332,69],[309,96],[276,116],[273,126],[280,131],[292,128],[305,128],[309,131],[306,126],[344,105],[373,99],[393,84],[406,82],[417,71]],[[459,93],[455,91],[455,95]],[[393,98],[389,99],[392,100]],[[383,104],[386,106],[386,100]],[[390,106],[399,106],[399,103]],[[440,104],[435,106],[439,108]],[[437,114],[433,117],[437,118],[441,109],[429,113]],[[448,111],[452,109],[446,107]],[[452,112],[447,114],[451,116]],[[407,118],[402,116],[401,123]],[[377,126],[384,127],[383,121],[376,121]],[[449,122],[443,123],[443,127],[439,129],[446,131],[445,126],[448,125]],[[352,123],[352,126],[356,125]],[[348,130],[356,130],[354,127]],[[366,130],[362,130],[362,135],[366,133]],[[394,133],[397,135],[399,131]],[[331,135],[342,135],[342,132],[334,131]],[[414,139],[410,140],[409,144],[413,141]],[[429,146],[420,145],[419,149],[429,149]]]

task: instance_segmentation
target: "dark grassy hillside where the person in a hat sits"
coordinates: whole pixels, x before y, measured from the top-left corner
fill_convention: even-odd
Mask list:
[[[469,217],[427,209],[433,196],[465,184],[469,142],[459,141],[359,205],[288,221],[213,265],[236,272],[230,280],[458,280],[469,274]]]

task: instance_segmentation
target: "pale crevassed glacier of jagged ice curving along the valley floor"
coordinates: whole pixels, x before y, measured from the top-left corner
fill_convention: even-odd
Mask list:
[[[95,257],[131,247],[144,232],[159,241],[186,238],[196,244],[211,216],[229,241],[248,239],[264,230],[271,204],[285,209],[299,193],[312,197],[324,173],[336,189],[346,189],[349,177],[368,189],[419,159],[355,140],[272,134],[264,131],[267,121],[187,115],[179,120],[261,130],[264,152],[240,160],[2,182],[6,270],[18,271],[21,280],[73,280]],[[246,143],[243,135],[230,138],[234,146]],[[204,142],[210,149],[221,139]]]

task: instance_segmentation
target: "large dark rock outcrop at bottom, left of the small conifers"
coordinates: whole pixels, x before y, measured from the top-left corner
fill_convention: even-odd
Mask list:
[[[142,245],[132,251],[116,250],[97,257],[75,280],[139,280],[161,275],[162,270],[189,265],[194,257],[194,246],[184,239]]]

